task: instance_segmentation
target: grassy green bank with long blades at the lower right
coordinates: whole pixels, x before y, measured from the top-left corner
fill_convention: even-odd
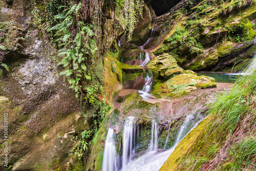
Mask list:
[[[229,92],[221,93],[210,105],[208,113],[213,118],[204,139],[207,142],[208,138],[214,138],[218,143],[208,145],[204,157],[188,156],[181,166],[195,170],[256,169],[256,69],[249,67],[244,72]]]

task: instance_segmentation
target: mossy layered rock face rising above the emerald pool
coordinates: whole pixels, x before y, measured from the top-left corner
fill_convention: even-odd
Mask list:
[[[255,2],[243,8],[236,2],[217,7],[203,4],[204,1],[189,9],[179,3],[179,8],[174,7],[164,16],[173,23],[154,54],[173,55],[183,69],[230,72],[233,65],[255,55]],[[227,8],[231,11],[227,12]],[[238,16],[234,9],[243,16]]]

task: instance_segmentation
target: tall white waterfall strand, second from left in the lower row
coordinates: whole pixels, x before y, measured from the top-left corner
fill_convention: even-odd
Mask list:
[[[127,117],[124,127],[123,127],[123,156],[122,156],[122,168],[125,169],[127,163],[132,160],[132,157],[135,153],[134,143],[133,143],[133,127],[134,117]],[[134,139],[135,141],[135,139]]]

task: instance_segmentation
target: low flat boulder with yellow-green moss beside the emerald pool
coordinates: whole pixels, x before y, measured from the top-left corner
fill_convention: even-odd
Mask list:
[[[164,83],[158,82],[152,92],[157,97],[170,98],[186,95],[197,89],[215,88],[215,79],[195,74],[180,74]]]

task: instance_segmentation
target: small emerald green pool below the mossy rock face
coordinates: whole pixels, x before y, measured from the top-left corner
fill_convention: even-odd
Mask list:
[[[198,76],[205,75],[215,79],[215,82],[234,83],[239,74],[233,73],[197,73]]]

